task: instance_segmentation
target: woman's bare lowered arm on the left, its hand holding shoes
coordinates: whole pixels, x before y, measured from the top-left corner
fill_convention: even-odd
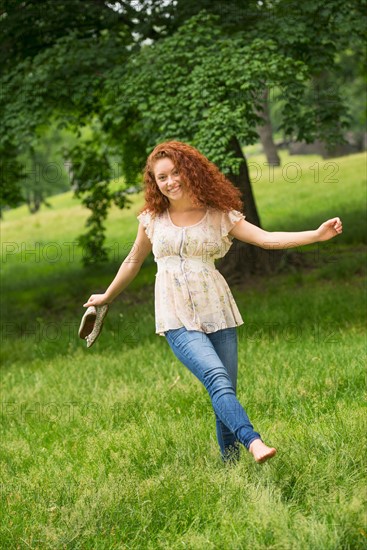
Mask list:
[[[104,304],[113,302],[116,296],[118,296],[139,273],[145,258],[151,250],[152,243],[148,239],[143,225],[140,223],[135,242],[106,292],[104,294],[92,294],[89,300],[83,304],[83,307],[103,306]]]

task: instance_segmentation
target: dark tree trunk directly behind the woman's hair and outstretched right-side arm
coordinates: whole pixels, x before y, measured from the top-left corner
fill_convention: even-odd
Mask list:
[[[236,157],[241,158],[242,163],[239,174],[228,174],[228,179],[242,192],[246,220],[261,227],[246,158],[236,137],[232,138],[230,146]],[[281,257],[282,252],[279,250],[265,250],[234,239],[228,254],[218,263],[218,269],[228,283],[240,284],[252,274],[274,271]]]

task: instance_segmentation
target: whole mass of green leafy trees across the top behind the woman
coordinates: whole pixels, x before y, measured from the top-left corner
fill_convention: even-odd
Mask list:
[[[3,204],[19,201],[19,159],[39,129],[54,120],[77,138],[75,146],[63,149],[73,164],[71,183],[92,210],[81,240],[87,261],[106,259],[108,207],[126,204],[147,152],[165,139],[189,141],[216,162],[241,188],[249,221],[260,224],[242,146],[260,134],[272,147],[274,132],[329,147],[343,139],[348,123],[360,117],[358,90],[365,73],[362,64],[346,59],[353,57],[351,50],[362,51],[363,5],[4,2]],[[274,109],[275,128],[269,116]],[[88,139],[83,126],[90,129]],[[117,191],[108,183],[112,159],[125,177]],[[264,254],[256,258],[243,249],[232,256],[237,259],[227,275],[248,268],[248,253],[254,269],[265,267]]]

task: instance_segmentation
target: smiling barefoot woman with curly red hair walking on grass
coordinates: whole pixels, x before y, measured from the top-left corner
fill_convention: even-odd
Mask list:
[[[245,220],[239,190],[199,151],[178,141],[153,150],[144,181],[135,244],[106,292],[93,294],[84,307],[111,303],[153,250],[156,332],[207,389],[222,459],[237,460],[241,443],[264,462],[276,449],[263,443],[236,397],[236,327],[243,321],[214,260],[226,254],[233,237],[288,248],[331,239],[342,223],[333,218],[313,231],[264,231]]]

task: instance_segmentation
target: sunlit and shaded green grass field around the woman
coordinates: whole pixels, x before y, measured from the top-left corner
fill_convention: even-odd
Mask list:
[[[234,295],[238,395],[278,448],[223,466],[209,398],[154,334],[155,265],[111,307],[87,350],[82,304],[103,291],[142,197],[112,210],[111,262],[82,267],[86,212],[71,194],[2,230],[1,548],[363,549],[366,527],[365,155],[251,157],[262,224],[343,235],[303,249],[307,268]]]

